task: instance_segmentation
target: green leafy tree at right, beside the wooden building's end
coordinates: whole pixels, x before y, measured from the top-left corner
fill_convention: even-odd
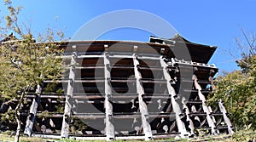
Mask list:
[[[224,73],[217,77],[217,88],[210,102],[224,101],[230,112],[230,120],[237,130],[256,129],[256,38],[248,37],[242,30],[245,40],[236,40],[241,59],[236,60],[240,71]]]

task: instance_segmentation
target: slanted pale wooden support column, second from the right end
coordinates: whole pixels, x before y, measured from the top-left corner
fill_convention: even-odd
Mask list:
[[[211,128],[211,133],[212,134],[217,134],[216,131],[215,131],[215,124],[214,122],[212,121],[212,117],[210,116],[210,111],[208,109],[208,106],[206,105],[206,98],[205,96],[201,93],[201,86],[200,84],[197,82],[197,77],[195,76],[195,74],[193,75],[192,77],[194,83],[195,83],[195,88],[198,90],[198,96],[199,96],[199,99],[201,99],[201,103],[202,103],[202,109],[205,113],[207,113],[207,122],[208,122],[208,125],[209,127]]]

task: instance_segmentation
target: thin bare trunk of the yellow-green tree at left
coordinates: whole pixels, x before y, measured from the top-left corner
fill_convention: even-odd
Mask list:
[[[18,105],[16,106],[15,108],[15,119],[16,119],[16,122],[17,122],[17,129],[16,129],[16,134],[15,134],[15,142],[19,142],[19,139],[20,139],[20,106],[23,104],[23,98],[24,98],[24,95],[26,94],[26,90],[24,90],[20,96],[20,101],[18,103]]]

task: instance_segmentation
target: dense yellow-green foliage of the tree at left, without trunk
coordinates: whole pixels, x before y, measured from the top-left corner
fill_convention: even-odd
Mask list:
[[[0,48],[0,91],[5,99],[61,76],[61,58],[57,57],[61,51],[57,44],[33,41],[26,37]]]

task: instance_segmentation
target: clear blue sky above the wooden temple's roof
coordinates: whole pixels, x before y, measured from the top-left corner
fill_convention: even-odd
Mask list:
[[[144,10],[168,21],[191,42],[218,46],[209,64],[214,63],[220,71],[238,69],[235,58],[227,50],[235,51],[236,37],[242,39],[241,28],[247,34],[256,32],[256,0],[23,0],[13,3],[24,7],[20,20],[29,21],[34,33],[57,27],[64,29],[66,37],[73,37],[81,26],[100,14],[122,9]],[[0,9],[3,15],[3,1]],[[99,39],[148,42],[149,36],[146,31],[119,29]]]

